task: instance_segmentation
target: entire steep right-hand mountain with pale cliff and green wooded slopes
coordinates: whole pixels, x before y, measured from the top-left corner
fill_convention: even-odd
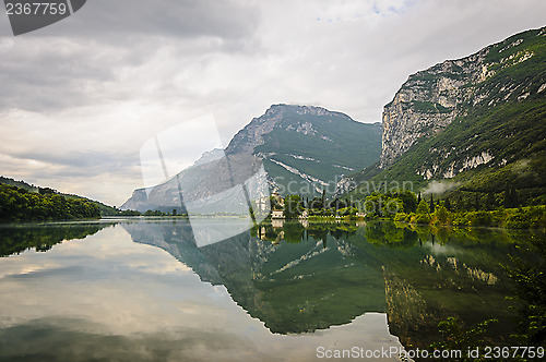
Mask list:
[[[545,100],[546,27],[417,72],[384,107],[380,162],[352,178],[539,196]]]

